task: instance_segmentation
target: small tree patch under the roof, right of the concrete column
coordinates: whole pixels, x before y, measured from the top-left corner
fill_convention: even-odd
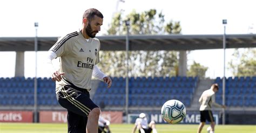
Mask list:
[[[190,69],[187,71],[187,76],[198,76],[200,78],[205,78],[205,72],[207,71],[208,67],[204,67],[200,63],[193,62],[190,66]]]

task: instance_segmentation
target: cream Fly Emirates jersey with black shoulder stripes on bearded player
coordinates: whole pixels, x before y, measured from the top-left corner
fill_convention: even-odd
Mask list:
[[[99,63],[99,49],[97,38],[87,41],[80,31],[60,38],[50,49],[59,57],[59,71],[65,72],[63,79],[56,82],[56,92],[70,84],[90,89],[94,65]]]

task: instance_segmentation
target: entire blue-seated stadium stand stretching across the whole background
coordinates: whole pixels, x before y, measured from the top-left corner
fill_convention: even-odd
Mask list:
[[[113,77],[111,89],[99,82],[93,100],[98,105],[109,107],[125,106],[125,78]],[[198,77],[131,77],[129,78],[130,107],[160,107],[165,101],[177,99],[190,107],[198,84]],[[38,105],[57,106],[55,83],[50,78],[38,78]],[[222,103],[223,80],[216,95]],[[33,106],[34,79],[15,77],[0,78],[0,106]],[[256,77],[228,77],[226,79],[226,105],[233,107],[256,106]]]

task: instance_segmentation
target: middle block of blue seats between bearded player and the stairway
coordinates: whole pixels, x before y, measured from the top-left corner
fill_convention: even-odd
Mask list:
[[[112,80],[112,88],[109,90],[106,89],[105,83],[99,84],[93,97],[96,104],[125,105],[125,78],[114,77]],[[178,99],[189,107],[197,82],[198,77],[131,77],[129,78],[129,106],[160,107],[167,100]]]

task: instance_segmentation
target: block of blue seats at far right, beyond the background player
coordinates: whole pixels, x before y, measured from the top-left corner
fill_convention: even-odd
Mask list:
[[[256,77],[228,77],[225,81],[227,106],[256,106]],[[219,84],[216,101],[222,103],[223,79],[217,77],[215,83]]]

